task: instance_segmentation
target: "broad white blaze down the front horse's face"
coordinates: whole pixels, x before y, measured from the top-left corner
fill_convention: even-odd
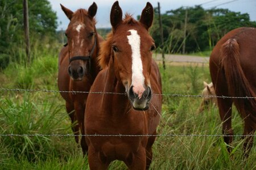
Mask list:
[[[127,36],[128,42],[131,45],[131,86],[133,86],[133,91],[135,94],[141,98],[145,88],[143,66],[141,60],[141,37],[135,29],[130,29],[131,35]]]

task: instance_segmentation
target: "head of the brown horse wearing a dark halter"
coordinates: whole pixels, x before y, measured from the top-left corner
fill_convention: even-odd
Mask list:
[[[70,20],[65,31],[69,55],[67,71],[73,80],[79,81],[89,73],[90,59],[96,52],[97,37],[94,16],[97,12],[97,5],[93,2],[88,11],[79,9],[75,12],[63,5],[60,6]]]

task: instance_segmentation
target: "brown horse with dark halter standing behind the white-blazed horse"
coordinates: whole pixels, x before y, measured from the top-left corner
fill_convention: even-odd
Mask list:
[[[65,35],[68,44],[61,49],[59,54],[58,86],[60,91],[89,91],[96,75],[100,71],[98,66],[99,43],[102,37],[97,34],[94,16],[97,5],[93,3],[88,11],[79,9],[72,12],[61,5],[62,10],[68,16],[70,23]],[[72,130],[78,135],[79,129],[84,134],[84,111],[88,94],[60,93],[66,101],[66,109],[74,125]],[[75,109],[75,112],[73,112]],[[79,137],[75,137],[79,142]],[[88,147],[85,138],[81,138],[81,146],[84,154]]]

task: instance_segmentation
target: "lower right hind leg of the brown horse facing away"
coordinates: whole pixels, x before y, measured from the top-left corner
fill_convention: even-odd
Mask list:
[[[253,128],[245,118],[245,125],[243,129],[243,135],[253,135],[255,132],[255,128]],[[245,138],[245,143],[243,143],[243,156],[247,158],[249,156],[249,152],[251,147],[253,147],[253,136],[250,137],[243,137]]]

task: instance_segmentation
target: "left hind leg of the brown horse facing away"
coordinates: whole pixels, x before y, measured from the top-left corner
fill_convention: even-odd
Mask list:
[[[232,129],[232,100],[218,98],[218,111],[220,113],[222,121],[222,134],[224,135],[233,135]],[[226,144],[232,143],[233,137],[224,137],[224,142]],[[228,147],[228,151],[231,151],[231,148]]]

